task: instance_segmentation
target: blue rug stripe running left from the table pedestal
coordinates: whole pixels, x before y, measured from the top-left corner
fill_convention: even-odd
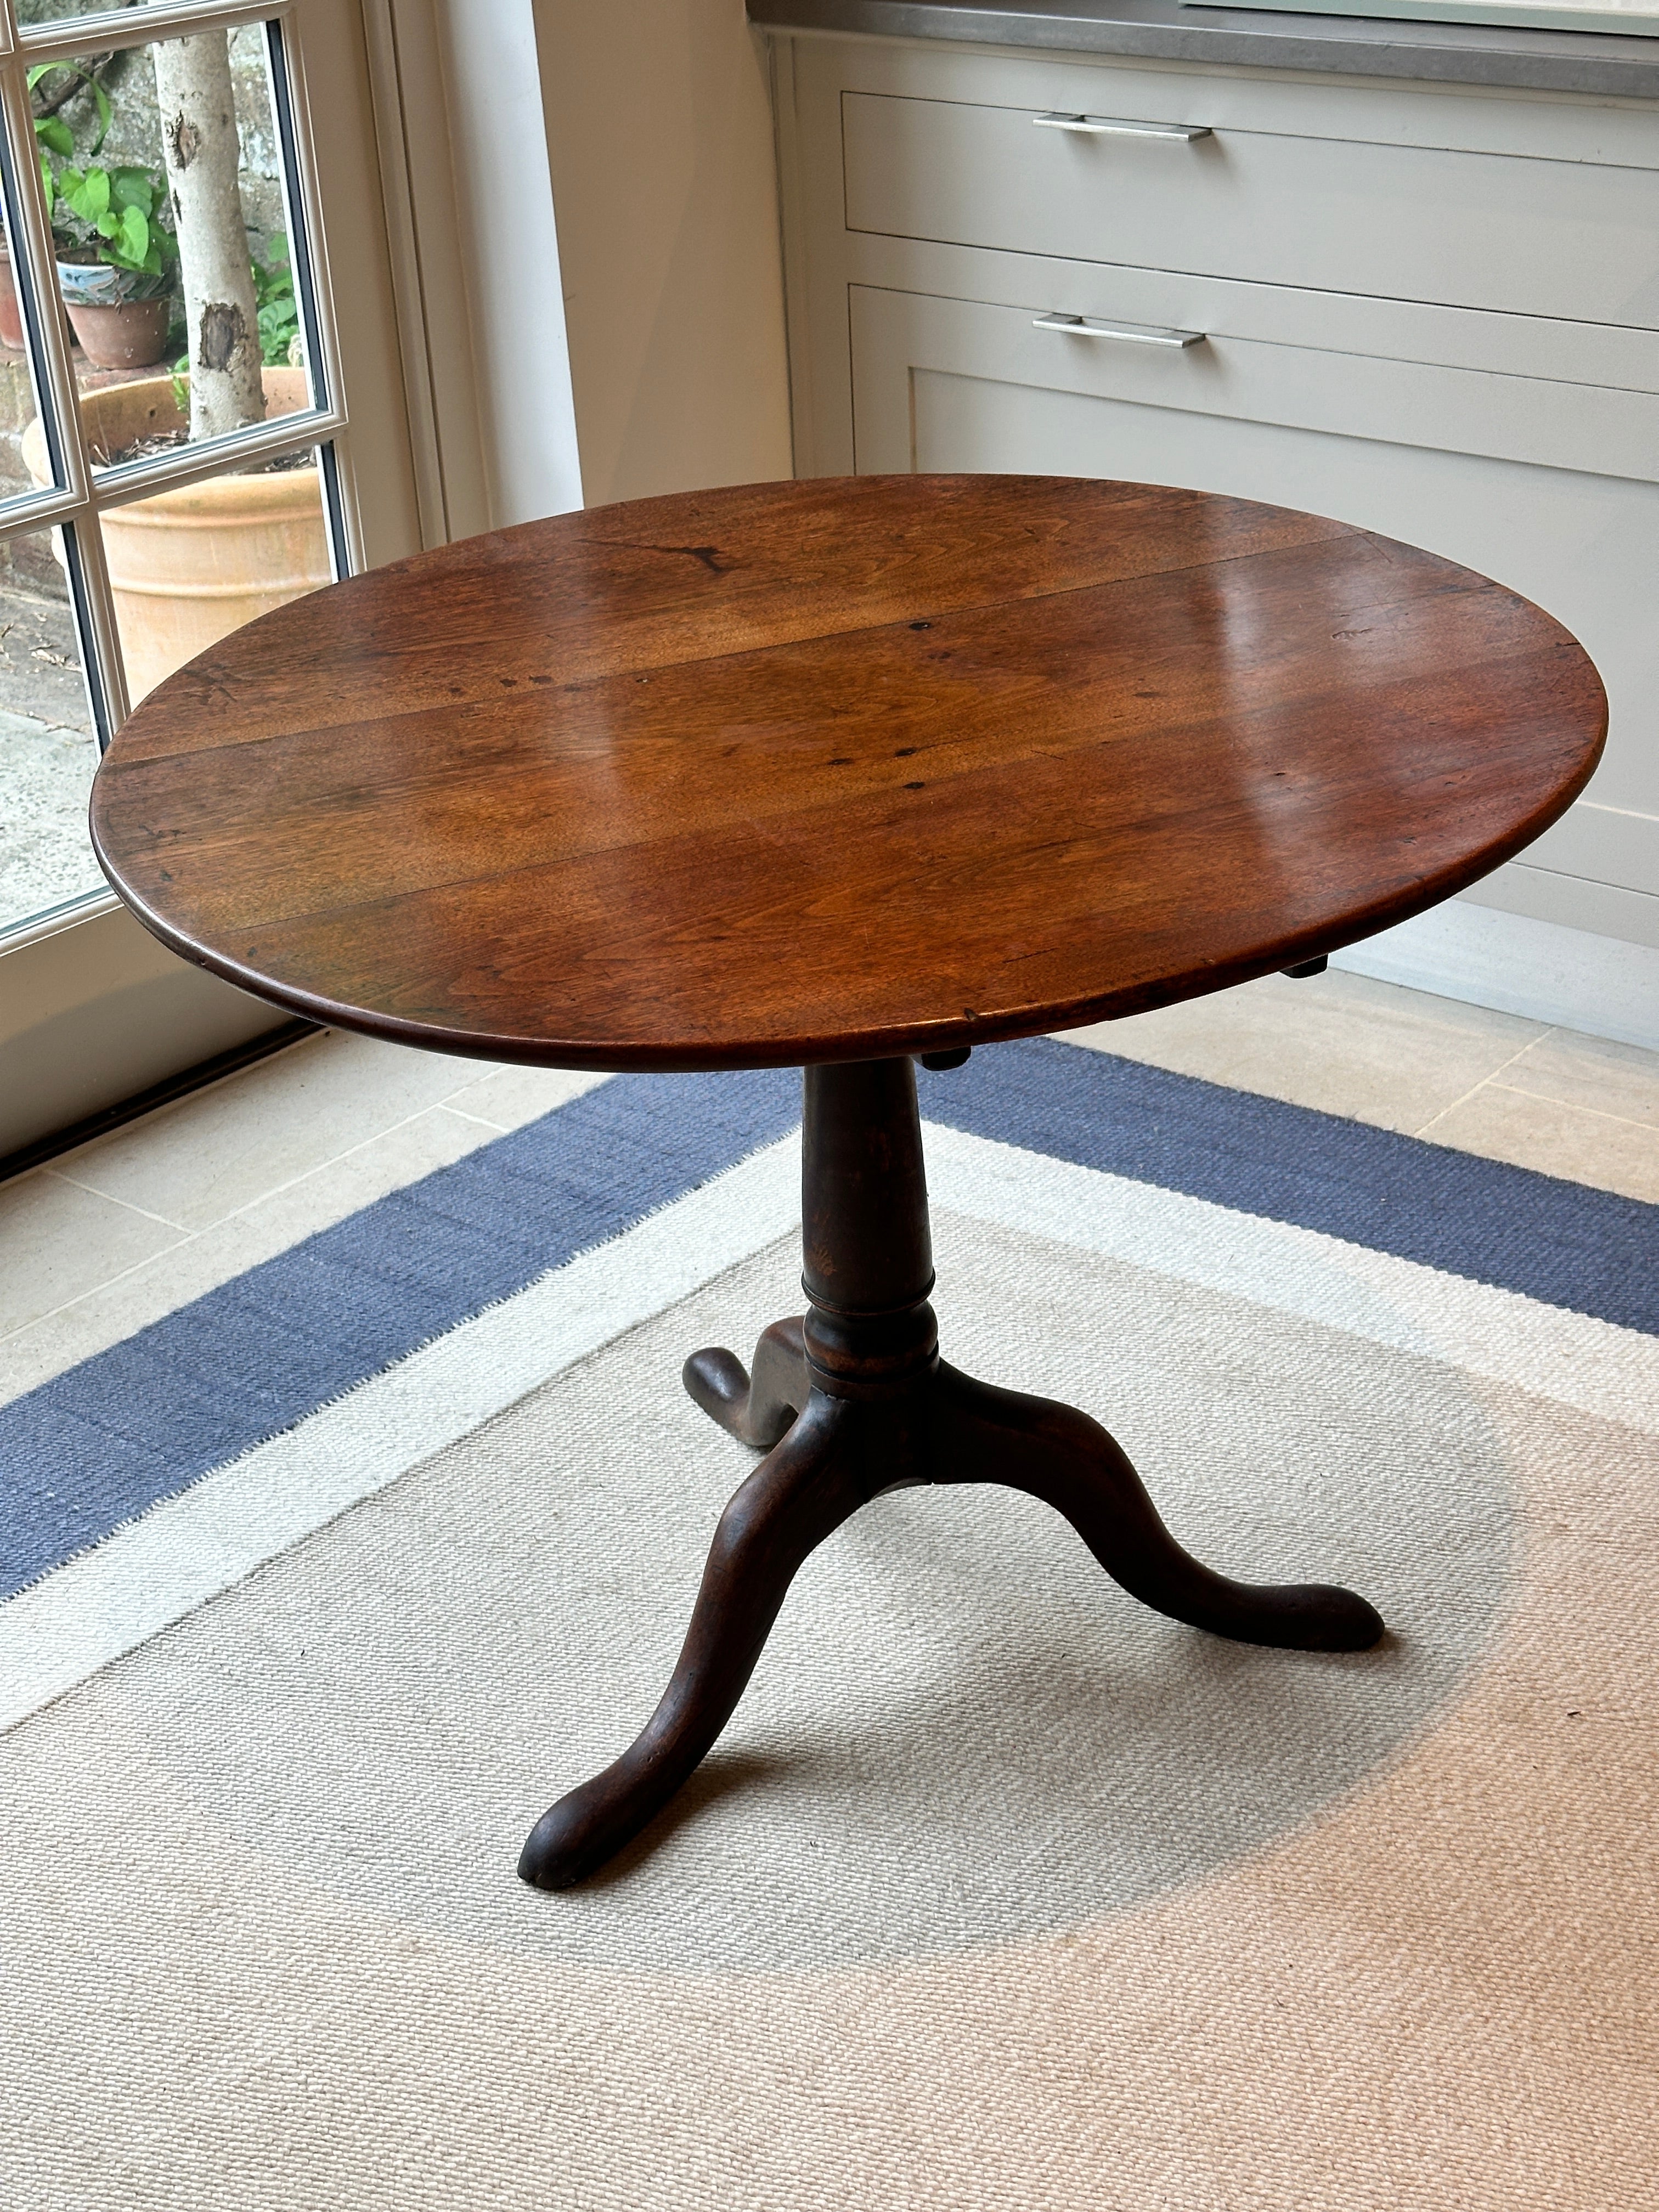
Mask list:
[[[801,1077],[619,1075],[0,1409],[0,1597],[801,1119]]]

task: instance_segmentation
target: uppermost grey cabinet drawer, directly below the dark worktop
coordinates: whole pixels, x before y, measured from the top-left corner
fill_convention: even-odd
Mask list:
[[[1181,113],[1110,122],[1201,128],[1203,95],[1194,75]],[[843,93],[847,228],[1659,327],[1655,170],[1276,131],[1071,131],[1040,115]]]

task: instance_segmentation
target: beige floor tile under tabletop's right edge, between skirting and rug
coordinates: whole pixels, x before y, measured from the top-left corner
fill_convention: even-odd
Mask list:
[[[1513,1013],[1329,969],[1071,1029],[1066,1042],[1409,1133],[1544,1033]]]

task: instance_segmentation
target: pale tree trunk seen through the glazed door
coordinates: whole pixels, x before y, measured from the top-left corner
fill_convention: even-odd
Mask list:
[[[190,436],[217,438],[265,420],[230,38],[197,31],[159,40],[150,53],[190,323]]]

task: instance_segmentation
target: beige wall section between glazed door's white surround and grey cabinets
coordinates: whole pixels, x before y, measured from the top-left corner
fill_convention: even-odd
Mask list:
[[[588,507],[792,476],[765,53],[743,0],[533,0]]]

